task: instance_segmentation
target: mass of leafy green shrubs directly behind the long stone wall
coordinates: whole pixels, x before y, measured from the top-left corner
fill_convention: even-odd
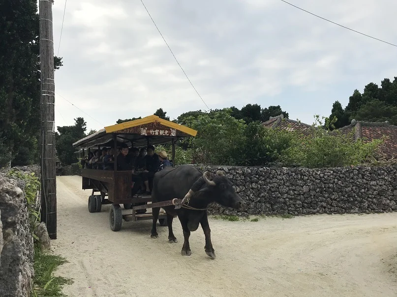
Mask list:
[[[315,116],[309,135],[292,129],[266,128],[259,122],[246,125],[233,118],[229,109],[185,121],[198,131],[197,136],[189,140],[193,158],[198,163],[258,166],[280,162],[285,166],[300,164],[308,168],[380,163],[379,148],[383,140],[355,141],[353,133],[331,131],[336,118],[324,119],[325,124]]]

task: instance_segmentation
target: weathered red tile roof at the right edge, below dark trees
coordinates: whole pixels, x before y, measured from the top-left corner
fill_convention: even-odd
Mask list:
[[[388,157],[397,157],[397,126],[389,124],[389,122],[361,122],[352,120],[348,126],[338,129],[341,133],[347,134],[354,132],[354,139],[363,139],[364,142],[370,142],[374,139],[381,139],[387,136],[383,143],[382,151]]]

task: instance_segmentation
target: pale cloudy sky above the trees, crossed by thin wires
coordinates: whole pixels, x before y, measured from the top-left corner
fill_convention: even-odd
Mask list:
[[[280,105],[306,123],[343,106],[354,89],[397,76],[397,48],[280,0],[144,0],[210,108]],[[396,0],[290,0],[336,23],[397,44]],[[331,4],[332,2],[332,4]],[[65,0],[55,0],[58,54]],[[174,119],[207,109],[140,0],[68,0],[55,72],[56,125],[88,129],[163,108]]]

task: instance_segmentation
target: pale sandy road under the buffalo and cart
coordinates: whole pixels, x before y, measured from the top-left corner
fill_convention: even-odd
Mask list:
[[[58,177],[57,185],[52,244],[70,261],[57,272],[74,279],[64,288],[69,297],[397,296],[397,213],[211,219],[211,260],[201,228],[190,237],[192,255],[183,257],[177,218],[179,243],[168,243],[167,227],[151,239],[150,221],[123,222],[113,232],[108,205],[88,212],[90,192],[81,190],[80,177]]]

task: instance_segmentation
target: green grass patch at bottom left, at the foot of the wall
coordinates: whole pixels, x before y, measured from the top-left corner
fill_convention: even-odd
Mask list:
[[[66,297],[62,293],[62,287],[71,284],[71,279],[54,276],[54,271],[64,263],[67,261],[61,256],[35,249],[32,297]]]

